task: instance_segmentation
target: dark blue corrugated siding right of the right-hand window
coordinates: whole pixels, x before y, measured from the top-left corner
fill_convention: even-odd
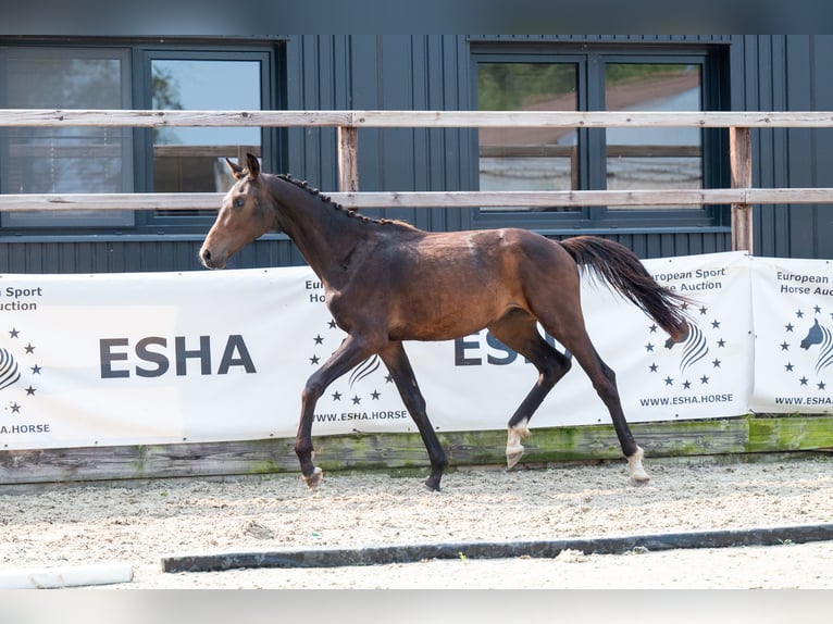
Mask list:
[[[831,35],[733,37],[732,109],[833,110],[831,54]],[[753,150],[755,186],[833,186],[833,129],[756,129]],[[831,204],[756,207],[754,219],[756,255],[833,258]]]

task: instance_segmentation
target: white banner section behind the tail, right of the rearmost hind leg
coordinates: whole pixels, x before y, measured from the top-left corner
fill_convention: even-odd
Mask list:
[[[619,329],[607,339],[618,346],[611,360],[630,421],[747,412],[754,342],[746,259],[735,252],[645,261],[660,284],[692,301],[692,330],[680,344],[668,342],[633,305],[623,303],[619,313],[605,307],[608,326]],[[629,320],[627,329],[620,328],[620,319]]]

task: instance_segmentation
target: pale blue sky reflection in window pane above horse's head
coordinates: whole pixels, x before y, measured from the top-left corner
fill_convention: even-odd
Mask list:
[[[184,110],[259,111],[260,63],[257,61],[154,60],[170,75]],[[259,127],[169,128],[161,142],[178,145],[260,145]],[[175,139],[173,137],[176,137]]]

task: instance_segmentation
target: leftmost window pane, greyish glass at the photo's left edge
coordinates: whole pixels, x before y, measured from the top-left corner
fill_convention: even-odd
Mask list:
[[[130,108],[126,50],[0,49],[0,105],[11,109]],[[133,188],[129,129],[9,128],[0,134],[3,192],[126,192]],[[12,212],[2,225],[132,225],[128,211]]]

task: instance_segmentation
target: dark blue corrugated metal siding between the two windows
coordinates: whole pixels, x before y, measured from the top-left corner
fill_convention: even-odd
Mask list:
[[[459,36],[302,36],[290,41],[287,62],[290,109],[471,108],[468,45]],[[473,137],[467,129],[363,129],[359,133],[361,190],[472,189],[468,150]],[[334,129],[290,130],[287,172],[335,190],[335,145]],[[459,210],[368,214],[439,230],[460,229],[468,223]]]

